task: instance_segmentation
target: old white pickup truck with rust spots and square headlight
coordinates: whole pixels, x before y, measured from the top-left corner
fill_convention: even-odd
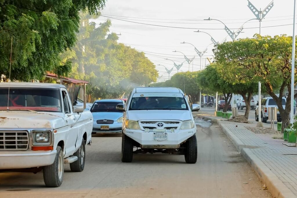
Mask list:
[[[58,187],[64,163],[72,172],[85,165],[93,116],[73,106],[64,85],[0,83],[0,171],[39,172]]]

